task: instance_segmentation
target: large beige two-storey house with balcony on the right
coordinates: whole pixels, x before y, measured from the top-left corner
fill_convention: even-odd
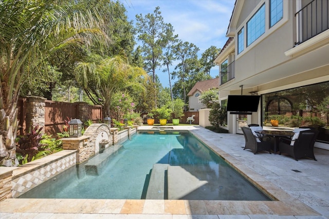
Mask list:
[[[312,125],[305,116],[325,120],[316,106],[329,95],[328,13],[329,0],[236,0],[228,41],[214,61],[220,101],[241,94],[261,101],[251,115],[228,112],[230,133],[251,123],[271,126],[275,117],[302,116],[290,127]]]

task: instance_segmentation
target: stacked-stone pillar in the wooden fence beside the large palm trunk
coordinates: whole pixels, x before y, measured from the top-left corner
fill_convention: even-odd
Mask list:
[[[27,96],[26,104],[26,129],[25,132],[29,133],[31,126],[45,127],[45,100],[46,98],[40,96]],[[42,130],[45,132],[45,129]]]

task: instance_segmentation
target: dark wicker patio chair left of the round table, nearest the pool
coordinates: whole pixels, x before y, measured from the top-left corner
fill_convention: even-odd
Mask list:
[[[254,154],[260,151],[268,151],[271,153],[271,141],[262,142],[252,134],[251,129],[248,127],[241,127],[243,135],[245,136],[246,144],[245,149],[250,149]]]

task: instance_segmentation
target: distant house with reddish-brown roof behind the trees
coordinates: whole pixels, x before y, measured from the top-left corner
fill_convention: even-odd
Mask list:
[[[199,103],[199,96],[202,92],[210,90],[210,89],[218,89],[219,80],[218,78],[213,78],[207,81],[197,82],[192,87],[190,92],[187,94],[189,96],[189,111],[196,112],[200,109],[205,109],[202,103]]]

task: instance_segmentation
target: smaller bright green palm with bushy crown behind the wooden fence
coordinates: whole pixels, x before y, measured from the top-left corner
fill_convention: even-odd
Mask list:
[[[128,87],[144,91],[140,82],[148,78],[142,68],[129,65],[124,56],[102,58],[94,55],[90,62],[77,63],[75,75],[89,98],[103,106],[105,116],[109,116],[115,93]]]

